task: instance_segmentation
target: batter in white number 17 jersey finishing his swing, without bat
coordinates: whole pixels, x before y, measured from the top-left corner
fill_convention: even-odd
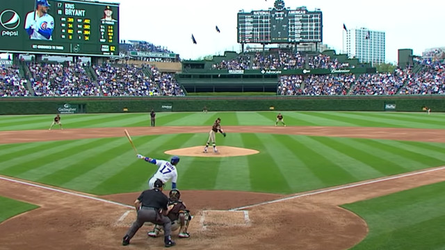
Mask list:
[[[172,156],[172,159],[170,160],[170,162],[168,162],[166,160],[156,160],[154,158],[145,157],[141,154],[138,154],[136,156],[138,156],[139,159],[143,159],[146,162],[152,163],[159,167],[158,170],[156,171],[156,173],[154,173],[152,178],[150,178],[148,181],[148,187],[150,189],[154,188],[154,182],[157,179],[161,180],[163,183],[166,183],[166,182],[172,180],[172,189],[176,188],[176,181],[178,178],[176,165],[179,163],[178,156]]]

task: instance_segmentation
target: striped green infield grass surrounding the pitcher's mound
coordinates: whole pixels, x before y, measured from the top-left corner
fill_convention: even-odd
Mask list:
[[[168,159],[171,149],[202,146],[207,133],[133,136],[140,153]],[[258,150],[251,156],[182,156],[178,187],[289,194],[445,165],[444,144],[304,135],[232,133],[218,145]],[[0,174],[94,194],[136,192],[156,166],[136,158],[127,138],[10,144]],[[1,147],[6,147],[2,145]]]

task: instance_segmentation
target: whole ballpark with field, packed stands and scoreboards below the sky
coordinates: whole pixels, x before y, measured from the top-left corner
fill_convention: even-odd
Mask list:
[[[314,33],[238,28],[241,51],[182,60],[121,40],[121,8],[2,1],[0,249],[445,249],[444,49],[384,70],[277,0],[238,27],[284,12]],[[163,160],[185,231],[126,241]]]

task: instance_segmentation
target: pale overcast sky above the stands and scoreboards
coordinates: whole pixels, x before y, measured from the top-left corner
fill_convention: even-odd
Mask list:
[[[101,0],[102,1],[102,0]],[[121,0],[120,39],[145,40],[179,53],[181,58],[239,51],[236,42],[238,10],[267,10],[274,0]],[[337,53],[343,49],[343,23],[350,28],[384,31],[386,60],[396,63],[398,49],[445,46],[445,1],[297,1],[284,0],[286,7],[306,6],[323,12],[323,44]],[[215,26],[218,25],[220,33]],[[197,44],[193,44],[191,34]],[[346,40],[346,38],[344,39]]]

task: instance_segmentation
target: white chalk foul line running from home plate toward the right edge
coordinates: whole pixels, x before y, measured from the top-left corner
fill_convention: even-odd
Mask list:
[[[256,207],[256,206],[267,205],[267,204],[270,204],[270,203],[277,203],[277,202],[280,202],[280,201],[287,201],[289,199],[296,199],[296,198],[300,198],[300,197],[307,197],[307,196],[314,195],[314,194],[323,194],[325,192],[344,190],[346,188],[355,188],[355,187],[359,187],[359,186],[362,186],[362,185],[368,185],[368,184],[372,184],[372,183],[379,183],[379,182],[382,182],[382,181],[389,181],[389,180],[394,180],[394,179],[397,179],[397,178],[403,178],[403,177],[407,177],[407,176],[414,176],[414,175],[417,175],[417,174],[425,174],[425,173],[428,173],[428,172],[435,172],[435,171],[442,170],[442,169],[445,169],[445,166],[444,167],[438,167],[438,168],[435,168],[435,169],[423,170],[421,172],[414,172],[414,173],[402,174],[402,175],[398,175],[398,176],[391,176],[391,177],[387,177],[387,178],[380,178],[380,179],[373,180],[373,181],[365,181],[365,182],[355,183],[355,184],[350,184],[350,185],[342,185],[342,186],[337,187],[337,188],[327,188],[327,189],[323,189],[323,190],[307,192],[307,193],[304,193],[304,194],[296,194],[296,195],[291,196],[291,197],[286,197],[286,198],[282,198],[282,199],[276,199],[276,200],[273,200],[273,201],[265,201],[265,202],[261,202],[261,203],[257,203],[257,204],[253,204],[253,205],[249,205],[249,206],[242,206],[242,207],[239,207],[239,208],[232,208],[232,209],[229,209],[229,211],[243,210],[243,209],[246,209],[246,208],[253,208],[253,207]]]

